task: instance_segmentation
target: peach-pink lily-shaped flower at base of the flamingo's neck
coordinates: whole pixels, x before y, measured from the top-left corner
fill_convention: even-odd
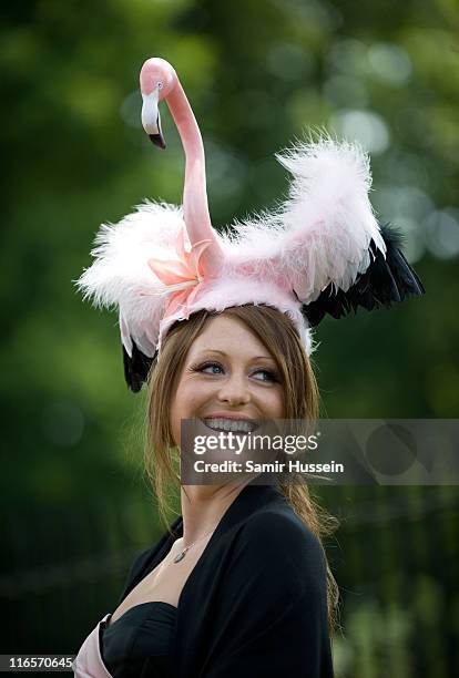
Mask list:
[[[210,238],[195,243],[190,251],[185,250],[185,228],[182,227],[175,244],[176,259],[149,259],[154,275],[172,291],[164,318],[173,315],[180,306],[184,317],[190,317],[190,307],[196,297],[200,282],[204,280],[201,256],[212,244]]]

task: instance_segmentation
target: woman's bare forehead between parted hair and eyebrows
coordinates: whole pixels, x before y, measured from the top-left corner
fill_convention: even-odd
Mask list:
[[[227,355],[271,357],[264,343],[244,322],[227,316],[216,316],[208,320],[204,330],[191,346],[188,356],[193,357],[208,350]]]

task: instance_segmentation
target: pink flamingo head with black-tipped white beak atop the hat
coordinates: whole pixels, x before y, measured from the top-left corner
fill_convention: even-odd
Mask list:
[[[142,93],[142,125],[152,143],[165,148],[161,130],[159,103],[166,99],[177,83],[177,75],[172,65],[160,58],[147,59],[140,73]]]

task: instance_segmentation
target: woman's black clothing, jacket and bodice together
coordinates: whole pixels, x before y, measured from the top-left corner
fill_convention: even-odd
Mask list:
[[[182,517],[171,530],[134,562],[120,603],[183,535]],[[143,678],[333,678],[324,551],[279,490],[251,483],[218,523],[178,607],[135,606],[103,636],[115,678],[134,675],[124,671],[136,660]]]

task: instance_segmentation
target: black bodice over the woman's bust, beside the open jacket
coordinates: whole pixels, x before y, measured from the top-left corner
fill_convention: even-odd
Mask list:
[[[176,612],[169,603],[141,603],[110,626],[110,617],[102,623],[99,645],[109,674],[113,678],[170,678]]]

